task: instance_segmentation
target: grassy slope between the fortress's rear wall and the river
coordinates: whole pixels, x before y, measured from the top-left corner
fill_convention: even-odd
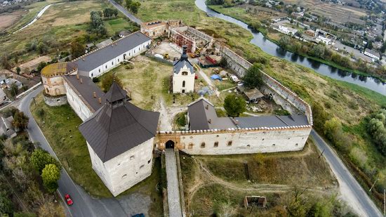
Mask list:
[[[138,17],[143,21],[182,19],[188,25],[214,34],[215,37],[222,37],[232,50],[246,59],[267,60],[264,68],[267,74],[291,88],[310,105],[318,103],[327,114],[338,118],[344,124],[344,130],[352,137],[352,148],[361,150],[365,156],[361,157],[361,161],[365,162],[368,168],[376,171],[375,175],[366,178],[375,180],[377,177],[386,176],[386,157],[380,155],[375,145],[368,139],[366,130],[360,128],[364,117],[378,110],[382,105],[386,105],[385,96],[354,84],[324,77],[306,67],[267,55],[260,48],[249,43],[252,35],[248,31],[229,22],[208,17],[204,12],[199,11],[193,0],[144,1]],[[358,128],[361,130],[356,130]],[[342,154],[347,162],[351,162],[350,153]],[[358,173],[355,175],[360,182],[364,180]],[[386,180],[383,182],[382,185],[386,186]],[[363,186],[365,190],[371,187],[367,183]]]

